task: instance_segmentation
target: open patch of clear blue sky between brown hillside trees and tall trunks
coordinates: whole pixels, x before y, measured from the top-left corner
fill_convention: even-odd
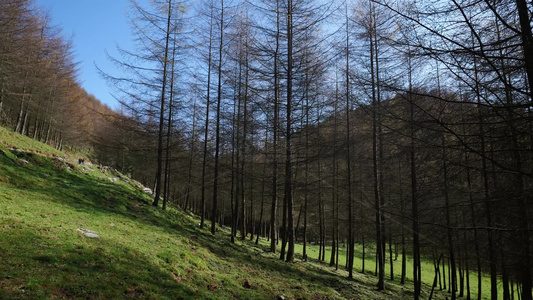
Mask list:
[[[95,67],[111,71],[107,50],[116,54],[116,45],[131,47],[127,10],[128,0],[36,0],[35,4],[49,12],[52,24],[63,28],[63,36],[72,38],[79,81],[85,90],[111,108],[117,102]]]

